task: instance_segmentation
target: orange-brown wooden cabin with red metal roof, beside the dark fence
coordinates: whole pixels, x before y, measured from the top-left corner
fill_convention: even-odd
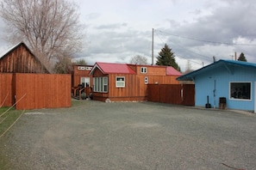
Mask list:
[[[147,100],[147,84],[178,84],[181,73],[158,65],[96,63],[93,77],[93,100]]]

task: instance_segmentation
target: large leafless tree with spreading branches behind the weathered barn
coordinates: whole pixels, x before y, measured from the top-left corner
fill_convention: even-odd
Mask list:
[[[9,40],[25,42],[47,66],[71,57],[82,47],[78,7],[67,0],[2,0],[0,15]]]

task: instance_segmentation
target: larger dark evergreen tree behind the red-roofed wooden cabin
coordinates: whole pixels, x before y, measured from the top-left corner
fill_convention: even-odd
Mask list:
[[[157,65],[166,65],[166,66],[172,66],[174,69],[179,70],[180,68],[178,64],[175,61],[174,58],[174,52],[172,52],[172,49],[165,44],[165,47],[161,49],[161,52],[159,52],[159,56],[157,57]]]

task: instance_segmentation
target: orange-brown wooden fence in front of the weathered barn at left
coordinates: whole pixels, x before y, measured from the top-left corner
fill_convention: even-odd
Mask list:
[[[10,99],[15,97],[4,106],[15,102],[17,110],[71,106],[71,75],[16,73],[6,83],[3,75],[6,74],[0,74],[0,99],[3,101],[8,93]]]

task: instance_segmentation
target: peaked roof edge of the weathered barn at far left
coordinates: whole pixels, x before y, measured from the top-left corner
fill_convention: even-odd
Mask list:
[[[10,47],[8,50],[6,50],[5,52],[3,52],[2,54],[0,54],[0,61],[5,58],[6,56],[9,55],[10,52],[13,52],[16,50],[16,48],[18,48],[19,46],[24,46],[26,48],[26,50],[34,57],[34,59],[39,63],[41,64],[41,66],[43,67],[43,69],[45,70],[46,73],[50,73],[47,68],[45,67],[44,64],[41,63],[41,61],[36,58],[36,56],[34,55],[33,52],[30,51],[30,49],[28,48],[28,46],[24,43],[24,42],[20,42],[18,44],[16,44],[16,46],[12,46]]]

